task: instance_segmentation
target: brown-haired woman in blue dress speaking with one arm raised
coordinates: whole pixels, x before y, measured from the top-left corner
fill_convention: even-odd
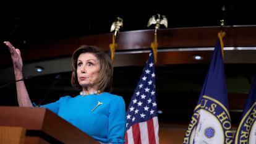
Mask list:
[[[15,80],[22,76],[19,49],[4,41],[14,64]],[[121,96],[112,95],[113,65],[110,57],[95,46],[80,46],[72,55],[72,86],[82,90],[74,98],[64,96],[48,108],[100,143],[124,143],[126,129],[125,103]],[[32,103],[23,81],[16,83],[19,106]]]

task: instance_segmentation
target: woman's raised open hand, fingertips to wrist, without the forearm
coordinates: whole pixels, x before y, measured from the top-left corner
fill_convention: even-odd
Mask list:
[[[14,72],[22,73],[23,62],[22,57],[20,55],[20,49],[15,49],[14,46],[12,46],[12,44],[9,41],[4,41],[4,44],[8,46],[11,52],[12,62],[14,64]]]

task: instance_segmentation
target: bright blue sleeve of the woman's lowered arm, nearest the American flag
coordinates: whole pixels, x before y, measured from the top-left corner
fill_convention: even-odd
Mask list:
[[[111,101],[109,108],[108,143],[124,143],[126,104],[121,96]]]

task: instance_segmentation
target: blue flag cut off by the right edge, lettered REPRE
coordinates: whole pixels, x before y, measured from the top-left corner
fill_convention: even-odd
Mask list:
[[[256,76],[256,75],[255,75]],[[256,77],[250,88],[250,93],[242,114],[241,122],[236,130],[235,143],[256,142]]]

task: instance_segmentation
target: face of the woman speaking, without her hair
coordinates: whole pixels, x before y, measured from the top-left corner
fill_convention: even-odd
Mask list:
[[[94,88],[94,84],[99,78],[99,73],[100,61],[94,54],[82,53],[79,55],[77,59],[77,78],[83,90]]]

